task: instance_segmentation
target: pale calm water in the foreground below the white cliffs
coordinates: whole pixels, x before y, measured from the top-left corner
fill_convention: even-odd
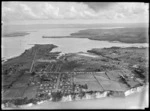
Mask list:
[[[146,86],[144,90],[148,91],[149,86]],[[67,102],[51,102],[46,101],[39,105],[33,105],[30,107],[21,107],[21,109],[144,109],[145,107],[148,107],[148,103],[144,104],[144,101],[142,105],[140,102],[140,97],[142,96],[141,93],[144,93],[144,90],[141,92],[136,92],[134,94],[128,95],[125,98],[116,98],[116,97],[104,97],[100,99],[86,99],[86,100],[76,100],[76,101],[67,101]],[[148,92],[147,95],[148,96]],[[147,97],[144,97],[143,99],[147,99]],[[130,100],[128,102],[128,100]],[[136,102],[134,101],[136,100]],[[147,102],[147,100],[145,100]],[[107,104],[106,104],[107,103]],[[110,104],[108,104],[110,103]],[[118,105],[119,104],[119,105]],[[140,104],[140,105],[139,105]]]

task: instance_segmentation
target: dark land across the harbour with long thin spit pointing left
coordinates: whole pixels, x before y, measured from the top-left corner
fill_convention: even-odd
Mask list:
[[[123,43],[147,43],[147,27],[86,29],[72,33],[70,36],[43,36],[43,38],[88,38],[101,41],[119,41]]]

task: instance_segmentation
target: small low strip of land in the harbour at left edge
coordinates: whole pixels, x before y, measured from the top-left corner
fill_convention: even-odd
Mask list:
[[[28,32],[11,32],[11,33],[4,33],[3,37],[20,37],[20,36],[25,36],[30,33]]]

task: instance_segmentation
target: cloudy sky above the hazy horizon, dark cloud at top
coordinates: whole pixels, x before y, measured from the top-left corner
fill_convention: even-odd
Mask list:
[[[2,2],[4,24],[148,23],[144,2]]]

